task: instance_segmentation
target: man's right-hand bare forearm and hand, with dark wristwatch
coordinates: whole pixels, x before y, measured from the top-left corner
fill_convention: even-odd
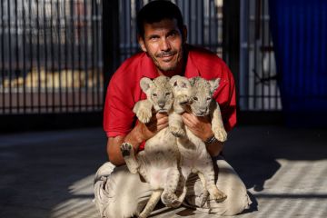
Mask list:
[[[184,113],[182,115],[183,123],[190,129],[190,131],[199,137],[203,142],[213,136],[212,125],[209,117],[197,117],[193,114]],[[221,154],[223,150],[223,143],[216,141],[213,144],[205,144],[208,153],[211,156]]]

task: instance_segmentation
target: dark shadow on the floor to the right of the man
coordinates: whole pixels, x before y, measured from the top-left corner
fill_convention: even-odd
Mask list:
[[[266,181],[281,169],[281,163],[277,160],[325,160],[326,142],[326,129],[241,126],[230,133],[224,155],[239,173],[247,189],[253,189],[256,195],[260,195],[258,193],[264,191]],[[257,210],[258,203],[252,193],[249,195],[253,201],[252,208],[247,211],[250,213]]]

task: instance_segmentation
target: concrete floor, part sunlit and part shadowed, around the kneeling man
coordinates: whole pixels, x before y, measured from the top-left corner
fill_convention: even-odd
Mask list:
[[[99,217],[93,178],[105,141],[101,128],[0,134],[0,217]],[[327,217],[326,129],[241,126],[224,153],[253,200],[235,217]],[[152,215],[213,216],[183,207]]]

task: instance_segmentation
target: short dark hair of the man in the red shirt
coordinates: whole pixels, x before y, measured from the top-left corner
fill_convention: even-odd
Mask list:
[[[176,19],[177,26],[183,34],[183,16],[177,5],[170,1],[156,0],[144,5],[137,14],[137,31],[144,38],[144,23],[153,24],[163,19]]]

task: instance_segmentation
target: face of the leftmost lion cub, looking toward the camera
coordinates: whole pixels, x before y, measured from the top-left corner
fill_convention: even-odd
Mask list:
[[[140,84],[147,99],[154,104],[154,111],[168,113],[173,106],[173,91],[169,78],[164,75],[154,80],[144,77]]]

